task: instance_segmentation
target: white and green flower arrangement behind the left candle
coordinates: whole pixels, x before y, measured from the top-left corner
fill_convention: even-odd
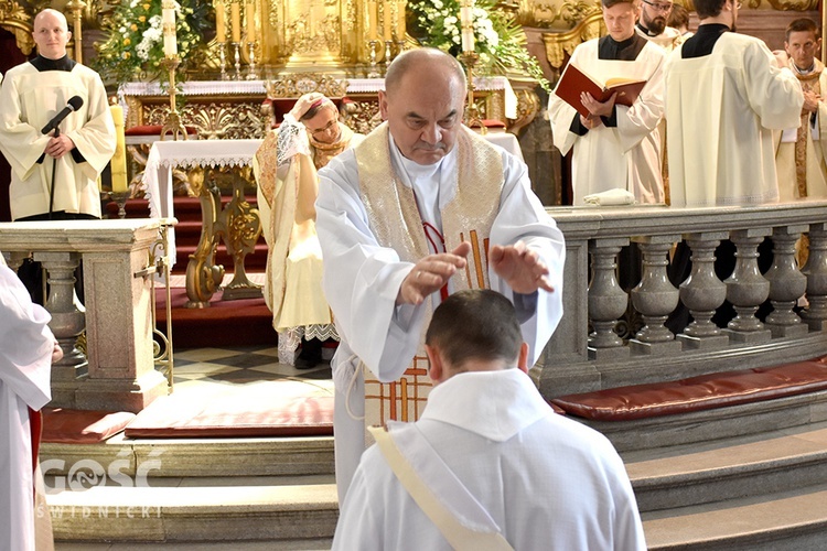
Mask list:
[[[192,63],[192,54],[204,43],[204,33],[212,30],[207,21],[210,2],[205,0],[176,0],[175,21],[180,69]],[[122,0],[105,23],[106,42],[96,45],[98,56],[93,66],[108,80],[125,83],[135,79],[165,83],[169,74],[161,61],[163,30],[161,2],[158,0]],[[176,79],[185,75],[180,71]]]

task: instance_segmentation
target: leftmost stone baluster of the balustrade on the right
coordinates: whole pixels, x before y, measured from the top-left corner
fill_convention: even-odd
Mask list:
[[[592,277],[589,283],[589,318],[594,332],[589,335],[589,357],[617,358],[629,355],[623,339],[614,332],[617,320],[626,311],[629,295],[617,283],[617,253],[629,245],[625,237],[595,239],[589,244]]]

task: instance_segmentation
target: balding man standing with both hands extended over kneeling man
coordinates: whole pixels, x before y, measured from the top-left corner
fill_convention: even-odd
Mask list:
[[[442,298],[481,287],[508,296],[531,365],[562,314],[562,234],[531,192],[525,164],[462,125],[466,88],[457,60],[406,52],[385,86],[387,122],[319,173],[323,285],[342,338],[332,361],[340,501],[366,422],[419,417],[430,386],[422,336]],[[376,398],[367,421],[363,368]]]

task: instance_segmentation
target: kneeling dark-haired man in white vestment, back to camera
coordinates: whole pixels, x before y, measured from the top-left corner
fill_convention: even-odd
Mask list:
[[[334,550],[646,549],[623,462],[605,436],[543,399],[505,298],[452,294],[426,350],[434,388],[425,413],[376,434]]]

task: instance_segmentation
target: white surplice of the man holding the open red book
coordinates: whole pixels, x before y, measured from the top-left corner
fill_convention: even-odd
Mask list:
[[[577,110],[554,93],[548,111],[555,147],[571,158],[573,205],[583,197],[609,190],[626,190],[638,203],[663,203],[660,134],[657,125],[664,112],[663,65],[666,56],[656,44],[646,43],[632,62],[598,58],[600,39],[580,44],[569,63],[600,78],[646,80],[632,107],[616,106],[617,126],[601,125],[578,136],[570,130]]]

